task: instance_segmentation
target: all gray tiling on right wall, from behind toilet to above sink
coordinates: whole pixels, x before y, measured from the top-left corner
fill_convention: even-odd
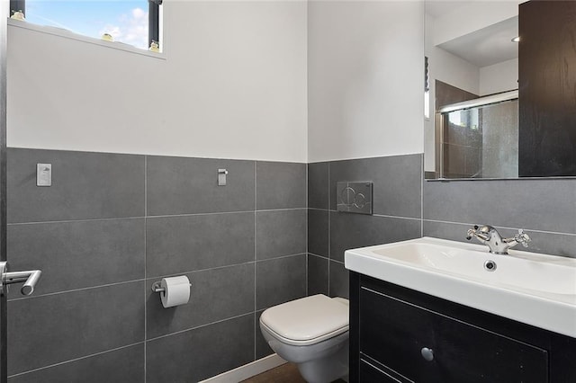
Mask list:
[[[424,181],[422,155],[308,165],[309,294],[347,297],[344,251],[419,236],[465,242],[475,224],[503,236],[524,228],[522,250],[576,257],[576,179]],[[374,215],[336,211],[336,183],[374,182]]]

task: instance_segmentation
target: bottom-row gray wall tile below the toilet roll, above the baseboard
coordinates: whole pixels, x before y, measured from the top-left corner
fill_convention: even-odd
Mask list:
[[[148,341],[148,383],[197,382],[254,359],[254,314]]]

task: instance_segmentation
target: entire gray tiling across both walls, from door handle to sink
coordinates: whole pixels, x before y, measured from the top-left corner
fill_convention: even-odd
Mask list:
[[[8,296],[10,382],[197,381],[255,361],[272,352],[266,307],[348,296],[347,248],[491,224],[576,256],[576,179],[428,182],[422,168],[421,154],[306,165],[10,148],[9,263],[42,270],[31,297]],[[373,182],[374,215],[336,211],[338,181]],[[166,309],[150,286],[173,275],[192,281],[190,303]]]

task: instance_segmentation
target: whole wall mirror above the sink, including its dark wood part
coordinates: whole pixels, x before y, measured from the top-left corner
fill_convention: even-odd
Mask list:
[[[426,178],[576,175],[576,49],[537,53],[539,34],[561,45],[576,37],[576,3],[427,0],[425,9]],[[545,62],[556,56],[572,74]],[[551,105],[557,94],[563,107]]]

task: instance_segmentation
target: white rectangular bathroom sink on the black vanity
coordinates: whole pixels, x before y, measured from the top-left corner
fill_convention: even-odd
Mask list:
[[[347,250],[346,268],[576,338],[576,259],[423,237]]]

